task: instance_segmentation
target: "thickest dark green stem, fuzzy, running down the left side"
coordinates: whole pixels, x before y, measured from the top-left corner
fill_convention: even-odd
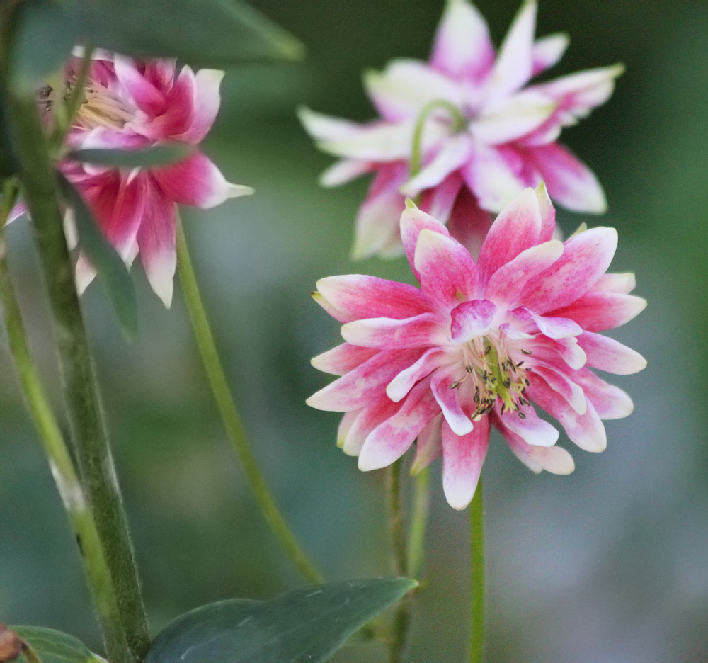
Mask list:
[[[139,661],[150,642],[147,618],[103,424],[89,341],[76,294],[74,269],[64,238],[62,211],[47,140],[34,98],[8,96],[20,178],[47,284],[81,481],[115,588],[129,656]]]

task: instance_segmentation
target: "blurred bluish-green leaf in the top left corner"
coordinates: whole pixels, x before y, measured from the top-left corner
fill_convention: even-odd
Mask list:
[[[16,10],[11,48],[11,85],[34,94],[48,74],[62,67],[76,43],[76,25],[64,6],[52,0],[30,0]]]

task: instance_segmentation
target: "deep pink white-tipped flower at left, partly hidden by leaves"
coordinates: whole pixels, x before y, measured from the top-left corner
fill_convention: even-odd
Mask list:
[[[75,79],[74,58],[69,81]],[[91,64],[84,103],[69,132],[72,149],[139,149],[176,142],[197,146],[219,110],[224,72],[170,60],[137,62],[100,52]],[[62,170],[93,210],[98,225],[130,265],[139,253],[155,293],[169,307],[176,268],[176,203],[211,208],[253,193],[231,184],[198,149],[181,162],[156,168],[111,169],[63,162]],[[81,256],[76,281],[83,291],[95,271]]]

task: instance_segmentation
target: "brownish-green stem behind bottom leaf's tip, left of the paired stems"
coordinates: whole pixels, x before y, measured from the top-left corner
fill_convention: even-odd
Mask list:
[[[387,467],[387,492],[389,495],[389,531],[394,553],[394,570],[404,576],[408,572],[409,560],[406,549],[406,528],[403,514],[403,494],[401,490],[401,472],[403,460],[399,459]],[[392,637],[389,642],[389,663],[399,663],[406,647],[406,638],[411,623],[411,601],[405,597],[396,606]]]

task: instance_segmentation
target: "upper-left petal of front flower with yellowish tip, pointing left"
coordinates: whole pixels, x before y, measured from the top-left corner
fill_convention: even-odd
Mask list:
[[[328,276],[317,281],[317,290],[340,322],[372,317],[404,319],[430,312],[430,301],[421,290],[377,276]]]

